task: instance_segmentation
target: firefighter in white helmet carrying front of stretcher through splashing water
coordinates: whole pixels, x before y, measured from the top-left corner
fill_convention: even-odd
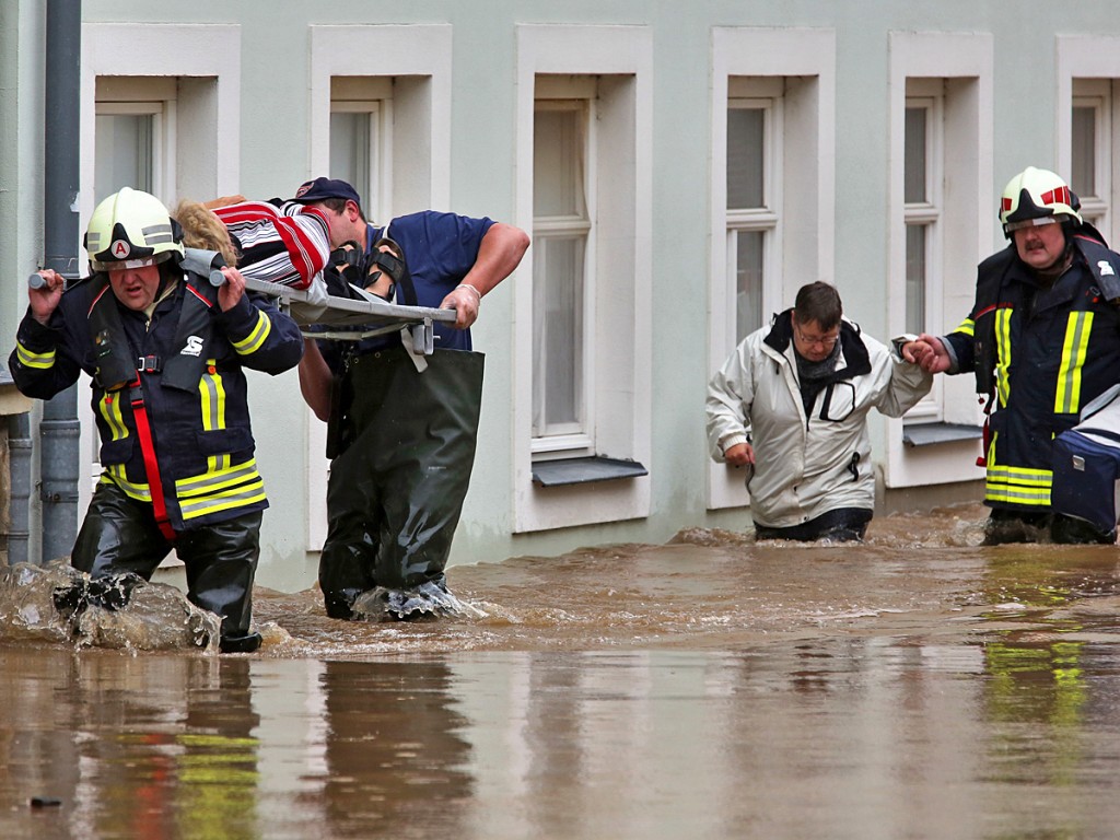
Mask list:
[[[99,204],[84,244],[91,276],[64,292],[59,274],[39,272],[10,357],[19,390],[41,400],[93,377],[103,473],[71,563],[93,581],[147,580],[174,548],[190,601],[222,618],[221,650],[256,650],[268,501],[242,368],[295,367],[299,328],[246,295],[235,269],[194,273],[178,223],[147,193]]]

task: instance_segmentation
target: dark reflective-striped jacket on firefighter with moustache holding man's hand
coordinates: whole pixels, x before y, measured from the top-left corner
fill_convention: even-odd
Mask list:
[[[1014,245],[980,264],[972,312],[946,338],[991,399],[989,506],[1049,510],[1054,438],[1120,381],[1120,310],[1101,292],[1118,274],[1120,255],[1077,235],[1073,264],[1048,289]]]

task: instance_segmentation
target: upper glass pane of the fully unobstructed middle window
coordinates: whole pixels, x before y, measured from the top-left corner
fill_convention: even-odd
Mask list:
[[[533,215],[586,218],[584,138],[576,110],[533,115]]]

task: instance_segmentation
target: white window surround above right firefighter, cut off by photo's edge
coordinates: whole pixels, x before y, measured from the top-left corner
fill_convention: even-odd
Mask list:
[[[1057,153],[1055,171],[1065,175],[1073,161],[1073,105],[1083,95],[1100,95],[1110,116],[1098,124],[1098,198],[1108,205],[1100,227],[1110,243],[1120,241],[1120,36],[1060,35],[1057,41],[1057,97],[1055,127]],[[1080,197],[1080,196],[1079,196]],[[1092,204],[1090,208],[1095,211]]]

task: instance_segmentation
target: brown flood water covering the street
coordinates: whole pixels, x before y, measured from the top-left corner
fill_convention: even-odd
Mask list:
[[[983,516],[455,567],[477,618],[260,591],[252,655],[76,646],[9,590],[0,838],[1120,837],[1120,553]]]

